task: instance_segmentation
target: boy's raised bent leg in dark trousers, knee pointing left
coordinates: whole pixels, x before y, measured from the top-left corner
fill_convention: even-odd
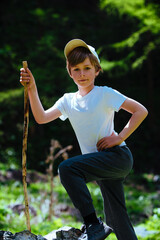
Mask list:
[[[123,179],[131,170],[132,161],[127,148],[116,146],[106,151],[73,157],[60,164],[61,182],[83,217],[95,211],[86,183]]]

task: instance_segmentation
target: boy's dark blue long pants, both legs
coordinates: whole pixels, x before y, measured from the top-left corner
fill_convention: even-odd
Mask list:
[[[137,240],[123,191],[123,181],[132,166],[133,158],[127,146],[76,156],[59,165],[61,182],[83,217],[95,211],[86,183],[97,181],[104,200],[106,222],[118,240]]]

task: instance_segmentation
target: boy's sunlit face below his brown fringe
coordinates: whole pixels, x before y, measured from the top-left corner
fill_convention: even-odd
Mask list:
[[[70,68],[70,76],[79,90],[91,90],[94,87],[94,81],[98,74],[99,72],[96,72],[89,58],[86,58],[84,62]]]

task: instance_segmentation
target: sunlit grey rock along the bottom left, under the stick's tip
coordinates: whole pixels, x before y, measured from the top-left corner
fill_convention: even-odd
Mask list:
[[[78,240],[81,234],[81,230],[66,226],[54,230],[44,237],[41,235],[35,235],[28,230],[15,234],[9,231],[0,231],[0,240]]]

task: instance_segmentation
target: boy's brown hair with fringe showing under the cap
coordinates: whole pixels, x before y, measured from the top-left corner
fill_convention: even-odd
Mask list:
[[[101,65],[96,58],[87,48],[76,47],[67,56],[67,70],[71,73],[71,67],[83,62],[86,58],[89,58],[91,64],[95,67],[95,71],[103,72]]]

